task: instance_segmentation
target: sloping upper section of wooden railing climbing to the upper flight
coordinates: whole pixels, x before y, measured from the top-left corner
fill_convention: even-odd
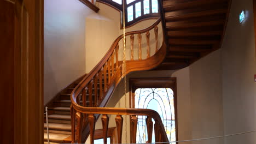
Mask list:
[[[74,125],[75,120],[79,117],[84,117],[86,112],[77,114],[77,106],[83,107],[104,107],[115,87],[121,80],[121,77],[130,73],[131,71],[137,70],[149,70],[158,66],[165,58],[166,45],[163,42],[160,49],[158,45],[154,47],[156,53],[150,56],[150,43],[149,43],[149,31],[153,31],[154,35],[158,35],[158,25],[160,25],[160,19],[156,21],[152,26],[143,29],[141,31],[127,32],[126,38],[130,37],[131,40],[131,60],[126,62],[126,71],[122,71],[122,61],[119,61],[119,41],[123,39],[123,35],[120,35],[112,44],[109,51],[101,59],[101,61],[90,71],[88,75],[74,88],[71,94],[71,122],[72,122],[72,141],[81,139],[82,142],[86,140],[89,135],[88,119],[84,119],[80,125]],[[138,38],[138,59],[133,57],[133,40],[137,35]],[[147,41],[147,58],[142,59],[142,47],[141,39],[142,35],[146,36]],[[155,44],[158,44],[158,36],[155,36]],[[127,42],[126,42],[127,43]],[[96,115],[96,119],[99,115]],[[96,121],[95,119],[95,121]],[[91,121],[91,120],[90,120]],[[81,127],[83,126],[83,127]],[[77,137],[77,128],[79,127],[80,137]],[[77,136],[75,136],[77,135]]]

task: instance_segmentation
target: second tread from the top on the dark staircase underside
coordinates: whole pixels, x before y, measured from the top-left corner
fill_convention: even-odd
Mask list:
[[[170,12],[170,13],[165,13],[165,20],[166,20],[166,22],[177,21],[177,20],[191,19],[193,17],[225,14],[226,12],[227,12],[227,9],[213,9],[213,10],[200,11],[197,13],[189,13],[189,14],[182,14],[182,15],[173,15],[173,13]]]

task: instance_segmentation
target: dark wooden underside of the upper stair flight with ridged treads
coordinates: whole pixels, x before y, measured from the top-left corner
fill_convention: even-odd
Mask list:
[[[163,1],[169,51],[159,70],[175,70],[220,48],[230,0]]]

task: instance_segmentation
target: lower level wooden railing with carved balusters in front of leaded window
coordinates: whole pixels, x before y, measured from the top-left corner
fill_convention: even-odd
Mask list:
[[[75,99],[76,100],[76,99]],[[109,117],[108,115],[116,115],[115,123],[117,125],[117,143],[122,143],[122,131],[123,131],[123,117],[124,115],[131,116],[131,125],[130,130],[133,131],[131,135],[131,143],[136,143],[136,133],[137,133],[137,116],[147,116],[146,125],[147,125],[147,134],[148,142],[152,142],[152,132],[153,132],[153,122],[152,118],[155,121],[154,132],[155,132],[155,142],[167,142],[168,138],[162,120],[159,116],[159,113],[154,110],[149,109],[124,109],[124,108],[109,108],[109,107],[83,107],[76,106],[76,112],[72,111],[72,115],[75,116],[75,123],[73,125],[77,126],[75,129],[75,137],[72,143],[82,143],[81,134],[82,134],[82,125],[84,119],[88,119],[88,124],[90,127],[90,143],[94,143],[94,131],[96,116],[102,115],[102,128],[103,128],[103,140],[104,143],[107,143],[107,131]],[[83,116],[83,113],[86,115]]]

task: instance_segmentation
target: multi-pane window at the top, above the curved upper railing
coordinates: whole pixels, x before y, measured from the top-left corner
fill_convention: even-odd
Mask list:
[[[99,0],[123,11],[122,0]],[[125,0],[125,26],[143,19],[158,18],[158,0]],[[122,19],[120,19],[122,20]],[[121,22],[122,23],[122,22]]]

